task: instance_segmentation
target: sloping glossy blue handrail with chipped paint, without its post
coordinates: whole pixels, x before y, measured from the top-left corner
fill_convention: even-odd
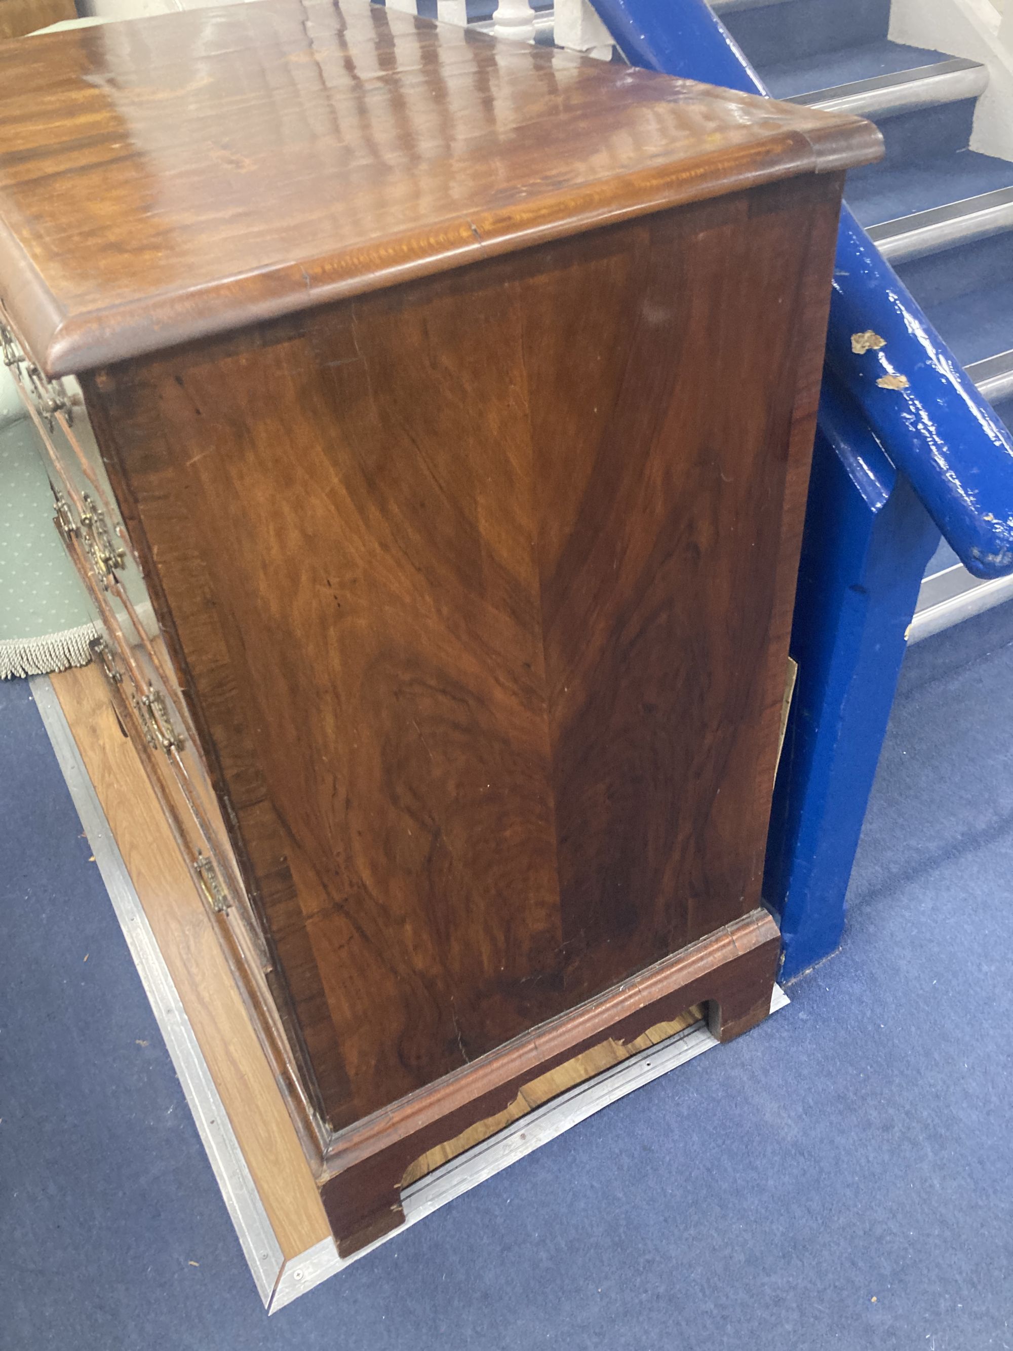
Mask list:
[[[594,7],[632,65],[767,93],[705,0]],[[867,330],[885,345],[855,353],[852,335]],[[827,365],[964,566],[975,577],[1013,571],[1013,439],[847,207]],[[883,388],[883,377],[906,385]]]

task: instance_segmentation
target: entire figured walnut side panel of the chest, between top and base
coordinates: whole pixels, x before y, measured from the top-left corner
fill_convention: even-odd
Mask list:
[[[804,180],[97,377],[335,1128],[756,904],[817,218],[824,290]]]

